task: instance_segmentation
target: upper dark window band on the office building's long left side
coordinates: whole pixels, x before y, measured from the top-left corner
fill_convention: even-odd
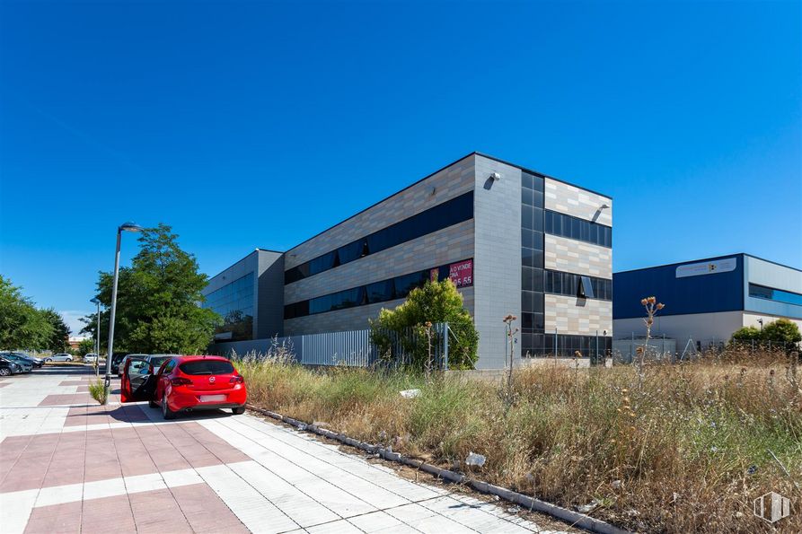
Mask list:
[[[339,249],[310,259],[284,273],[284,283],[292,284],[307,276],[317,275],[334,267],[390,249],[403,242],[417,239],[428,233],[443,230],[454,224],[463,223],[473,218],[473,191],[454,197],[443,204],[431,207],[424,212],[391,224],[382,230],[361,237]]]

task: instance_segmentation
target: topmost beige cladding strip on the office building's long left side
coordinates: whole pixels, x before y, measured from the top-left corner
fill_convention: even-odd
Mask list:
[[[473,188],[473,154],[404,189],[364,212],[301,243],[286,253],[289,269],[321,254],[347,245],[369,233],[382,230],[414,214],[437,206]],[[434,194],[433,194],[434,193]]]

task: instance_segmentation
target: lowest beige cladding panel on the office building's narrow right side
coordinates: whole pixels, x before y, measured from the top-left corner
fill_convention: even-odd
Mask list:
[[[546,293],[545,329],[546,334],[576,336],[599,336],[613,334],[613,302],[596,299],[579,299],[565,295]]]

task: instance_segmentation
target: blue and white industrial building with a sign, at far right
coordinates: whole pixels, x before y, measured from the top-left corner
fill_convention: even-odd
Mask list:
[[[748,254],[648,267],[613,275],[616,337],[645,333],[640,299],[665,308],[654,333],[701,346],[727,342],[738,328],[786,318],[802,328],[802,271]]]

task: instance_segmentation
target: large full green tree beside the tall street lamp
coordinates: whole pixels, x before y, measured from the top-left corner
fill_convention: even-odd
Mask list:
[[[145,354],[198,354],[206,350],[220,317],[200,308],[200,291],[207,276],[198,272],[195,257],[178,244],[172,228],[160,223],[142,232],[139,252],[131,267],[119,269],[117,318],[114,325],[115,352]],[[101,272],[97,298],[101,334],[109,331],[112,273]],[[96,332],[96,316],[83,319],[87,334]],[[101,337],[101,341],[104,341]]]

